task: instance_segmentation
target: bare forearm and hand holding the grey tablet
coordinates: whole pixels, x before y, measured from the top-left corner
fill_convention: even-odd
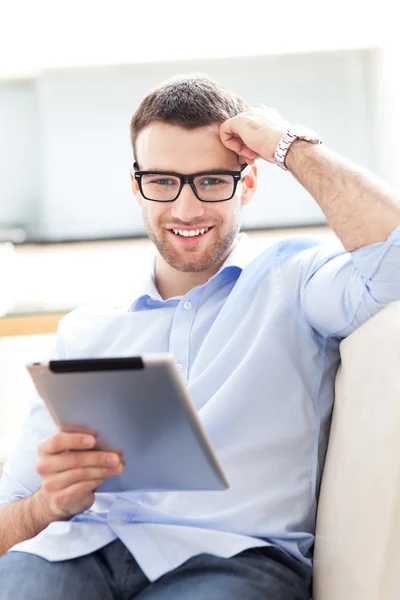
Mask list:
[[[122,473],[124,465],[119,454],[95,450],[95,444],[96,438],[91,434],[66,432],[40,442],[36,472],[41,487],[0,506],[0,556],[15,544],[36,536],[50,523],[67,521],[88,510],[95,500],[95,489],[108,477]],[[20,462],[11,459],[11,466]],[[10,488],[11,492],[15,485],[3,472],[1,490]]]

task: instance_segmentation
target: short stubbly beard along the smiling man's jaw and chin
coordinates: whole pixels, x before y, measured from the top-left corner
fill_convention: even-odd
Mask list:
[[[182,258],[182,254],[175,250],[171,244],[168,244],[165,239],[157,237],[145,211],[143,211],[143,220],[150,240],[170,267],[184,273],[199,273],[217,265],[227,254],[239,233],[241,212],[241,205],[239,204],[232,216],[232,221],[229,223],[227,233],[215,240],[213,245],[206,249],[203,256],[193,257],[192,259],[190,257]]]

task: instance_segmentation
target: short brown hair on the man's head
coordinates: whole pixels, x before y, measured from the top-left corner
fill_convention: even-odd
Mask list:
[[[143,98],[131,119],[130,133],[136,157],[138,133],[152,121],[186,129],[223,123],[247,107],[246,102],[206,75],[166,81]]]

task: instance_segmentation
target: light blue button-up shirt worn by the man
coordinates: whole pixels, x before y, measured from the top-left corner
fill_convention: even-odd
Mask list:
[[[254,256],[242,236],[184,297],[162,300],[149,268],[126,304],[70,313],[53,358],[173,355],[230,489],[96,494],[13,550],[64,560],[120,538],[150,580],[203,552],[266,544],[311,564],[339,341],[400,299],[399,266],[400,227],[351,254],[295,238]],[[39,488],[36,448],[55,430],[35,395],[0,503]]]

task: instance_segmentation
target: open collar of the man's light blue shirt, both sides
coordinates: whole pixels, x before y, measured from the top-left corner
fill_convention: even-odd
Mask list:
[[[138,282],[135,291],[127,302],[128,312],[133,309],[134,304],[141,298],[149,297],[156,302],[164,302],[157,290],[155,282],[156,258],[157,254],[155,252],[147,274]],[[242,271],[252,258],[254,258],[254,251],[251,251],[251,243],[248,236],[245,233],[239,233],[236,246],[221,265],[217,273],[210,277],[209,281],[216,279],[227,269],[236,268]]]

